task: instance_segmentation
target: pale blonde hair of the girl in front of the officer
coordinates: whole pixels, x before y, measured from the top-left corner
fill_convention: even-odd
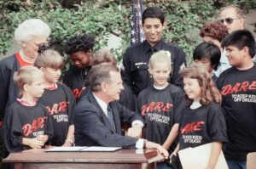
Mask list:
[[[149,59],[148,68],[154,69],[155,63],[166,63],[168,68],[172,72],[172,59],[171,59],[171,53],[169,51],[160,50],[157,53],[152,54],[151,58]]]

